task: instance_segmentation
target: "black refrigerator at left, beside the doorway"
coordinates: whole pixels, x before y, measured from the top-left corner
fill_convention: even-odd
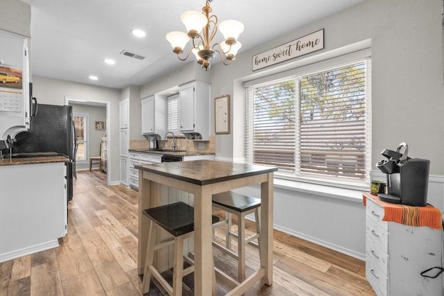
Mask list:
[[[12,153],[54,153],[69,158],[67,165],[68,200],[73,198],[73,175],[76,155],[76,132],[72,106],[37,105],[28,132],[20,132]],[[42,172],[43,173],[43,172]]]

